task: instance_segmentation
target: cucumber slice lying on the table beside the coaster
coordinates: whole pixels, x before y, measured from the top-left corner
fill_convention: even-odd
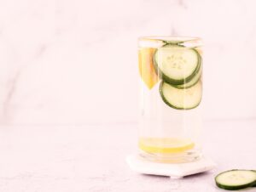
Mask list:
[[[239,169],[221,172],[215,177],[215,182],[221,189],[245,189],[256,184],[256,172]]]

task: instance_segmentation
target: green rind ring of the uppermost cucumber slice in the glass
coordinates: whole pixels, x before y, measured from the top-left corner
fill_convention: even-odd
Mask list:
[[[166,46],[173,47],[173,48],[175,48],[175,47],[176,48],[183,48],[183,46],[180,46],[180,45],[177,45],[177,44],[170,44],[170,43],[165,44],[161,48],[165,48]],[[158,65],[158,61],[156,59],[156,54],[158,53],[159,49],[156,49],[156,51],[154,52],[154,70],[158,74],[158,76],[160,78],[162,78],[165,82],[168,82],[168,83],[170,83],[172,85],[181,85],[181,84],[187,83],[190,80],[192,80],[193,77],[197,74],[197,72],[200,69],[200,66],[201,66],[201,55],[197,52],[197,50],[195,50],[195,48],[189,48],[189,49],[193,50],[195,52],[195,54],[197,55],[198,62],[197,62],[197,65],[195,67],[195,70],[192,71],[192,73],[189,76],[186,76],[183,79],[174,79],[174,78],[172,78],[170,76],[166,76],[166,74],[163,71],[160,70],[160,67]]]

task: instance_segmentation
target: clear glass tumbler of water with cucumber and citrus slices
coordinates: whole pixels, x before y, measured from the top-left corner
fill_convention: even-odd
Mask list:
[[[202,51],[195,37],[140,37],[138,147],[149,161],[201,157]]]

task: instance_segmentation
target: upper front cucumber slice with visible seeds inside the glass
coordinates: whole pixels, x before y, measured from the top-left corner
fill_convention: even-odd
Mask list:
[[[198,71],[201,56],[194,48],[166,44],[154,53],[154,66],[159,76],[173,85],[189,82]]]

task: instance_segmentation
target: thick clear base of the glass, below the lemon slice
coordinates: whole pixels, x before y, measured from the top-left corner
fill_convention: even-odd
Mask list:
[[[139,155],[147,161],[160,163],[184,163],[200,160],[202,153],[201,150],[189,150],[183,153],[172,154],[148,153],[146,151],[140,150]]]

